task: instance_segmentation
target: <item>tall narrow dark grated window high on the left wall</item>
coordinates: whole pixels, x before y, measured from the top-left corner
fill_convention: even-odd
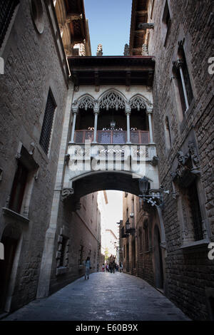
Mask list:
[[[49,153],[49,144],[51,140],[51,130],[54,120],[55,109],[56,109],[56,102],[54,100],[53,94],[51,93],[51,90],[49,90],[49,95],[46,103],[46,110],[44,113],[44,121],[41,128],[41,136],[39,140],[39,144],[41,145],[41,148],[43,148],[46,154]]]

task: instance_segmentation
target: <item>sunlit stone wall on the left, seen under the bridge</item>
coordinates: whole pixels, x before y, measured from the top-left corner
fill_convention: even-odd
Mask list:
[[[60,204],[51,270],[50,293],[82,277],[85,274],[84,262],[88,256],[91,259],[91,272],[97,270],[97,263],[101,252],[99,249],[101,242],[101,221],[97,205],[97,192],[81,197],[80,203],[81,209],[76,210],[76,212],[71,212],[69,200]],[[60,235],[61,227],[66,227],[69,239],[68,266],[66,272],[57,275],[57,237]],[[82,259],[80,259],[81,246],[83,247]]]

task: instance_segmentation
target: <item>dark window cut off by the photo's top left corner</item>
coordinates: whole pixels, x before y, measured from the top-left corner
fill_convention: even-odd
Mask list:
[[[9,28],[14,9],[19,4],[19,0],[1,0],[0,1],[0,48],[4,41],[6,31]]]

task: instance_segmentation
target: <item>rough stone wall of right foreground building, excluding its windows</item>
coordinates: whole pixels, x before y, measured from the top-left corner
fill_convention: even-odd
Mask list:
[[[208,59],[213,56],[211,31],[212,1],[170,0],[171,26],[165,41],[163,9],[165,0],[155,1],[153,16],[155,28],[150,33],[149,54],[156,56],[153,83],[153,124],[159,159],[160,182],[170,195],[165,195],[163,220],[167,242],[165,258],[168,298],[173,300],[193,319],[207,319],[205,292],[214,287],[214,261],[208,259],[208,242],[200,248],[185,248],[181,232],[178,198],[173,197],[170,172],[175,155],[183,150],[188,140],[195,138],[200,163],[200,206],[203,209],[208,241],[214,241],[213,221],[213,76],[208,73]],[[178,58],[178,42],[183,41],[193,101],[184,117],[179,114],[173,61]],[[164,46],[165,42],[165,46]],[[164,121],[169,118],[171,147],[165,143]],[[183,118],[183,120],[182,120]]]

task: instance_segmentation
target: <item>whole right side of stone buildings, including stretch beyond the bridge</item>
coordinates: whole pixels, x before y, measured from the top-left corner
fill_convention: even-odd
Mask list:
[[[156,58],[154,142],[160,185],[170,194],[161,210],[124,196],[123,227],[135,208],[135,230],[121,242],[126,270],[193,319],[214,317],[212,26],[212,1],[133,0],[129,51]],[[145,194],[153,200],[149,187]]]

